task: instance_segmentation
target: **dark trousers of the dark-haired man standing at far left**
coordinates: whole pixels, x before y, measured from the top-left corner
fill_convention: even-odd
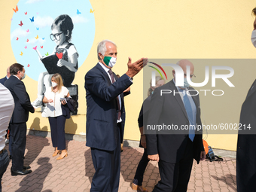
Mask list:
[[[14,171],[23,169],[23,157],[26,148],[26,123],[10,123],[11,133],[11,163]]]

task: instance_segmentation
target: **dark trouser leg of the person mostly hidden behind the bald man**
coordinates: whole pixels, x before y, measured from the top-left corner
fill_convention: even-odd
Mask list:
[[[146,167],[148,166],[148,153],[147,149],[144,148],[144,154],[142,155],[142,159],[139,161],[138,167],[136,169],[136,174],[133,179],[133,183],[139,186],[142,185],[143,182],[143,175],[145,172]]]

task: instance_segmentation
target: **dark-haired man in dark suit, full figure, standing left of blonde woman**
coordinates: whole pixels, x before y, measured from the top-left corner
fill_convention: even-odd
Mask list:
[[[29,112],[34,113],[35,108],[31,105],[29,94],[22,79],[25,78],[25,69],[19,63],[10,67],[11,77],[5,81],[5,87],[10,90],[14,97],[14,112],[10,121],[12,144],[12,167],[11,175],[26,175],[32,170],[30,166],[24,166],[23,157],[26,148],[26,121]]]

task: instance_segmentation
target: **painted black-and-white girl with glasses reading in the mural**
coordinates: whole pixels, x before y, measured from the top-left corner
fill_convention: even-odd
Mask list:
[[[67,14],[59,15],[53,21],[51,26],[52,33],[50,39],[56,43],[53,54],[59,58],[53,65],[58,66],[56,72],[62,76],[65,87],[70,87],[75,78],[75,72],[78,71],[78,52],[75,45],[70,43],[72,38],[72,30],[74,28],[71,17]],[[51,87],[50,79],[53,74],[42,72],[38,77],[38,98],[32,102],[35,108],[43,105],[44,86]]]

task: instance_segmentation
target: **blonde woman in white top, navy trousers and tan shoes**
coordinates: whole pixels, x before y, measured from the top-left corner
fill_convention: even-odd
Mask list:
[[[66,116],[62,114],[62,105],[66,105],[66,97],[69,97],[69,90],[63,86],[61,75],[56,73],[51,78],[52,86],[44,93],[43,102],[47,103],[43,117],[48,117],[50,123],[50,134],[55,151],[53,157],[60,154],[57,160],[68,156],[66,151],[65,123]]]

